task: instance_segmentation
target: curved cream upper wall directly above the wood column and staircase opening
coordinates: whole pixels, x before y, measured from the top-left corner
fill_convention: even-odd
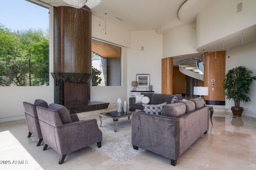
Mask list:
[[[163,34],[163,58],[194,53],[198,53],[195,23],[171,29]]]

